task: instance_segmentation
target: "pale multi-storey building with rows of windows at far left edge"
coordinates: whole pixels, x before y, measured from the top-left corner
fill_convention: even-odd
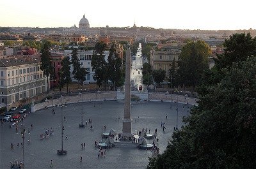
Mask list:
[[[7,105],[47,91],[47,77],[35,55],[0,59],[1,103]]]

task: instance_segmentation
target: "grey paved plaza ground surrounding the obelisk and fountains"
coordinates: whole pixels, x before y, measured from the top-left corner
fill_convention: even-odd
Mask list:
[[[92,119],[92,124],[87,124],[86,128],[79,128],[81,124],[81,108],[83,104],[83,122]],[[55,107],[56,114],[52,114],[52,109],[39,110],[31,113],[24,119],[26,128],[25,134],[25,168],[50,168],[51,159],[53,168],[147,168],[148,157],[152,156],[151,151],[140,150],[134,147],[111,147],[107,149],[106,158],[98,158],[99,149],[95,147],[95,140],[101,140],[102,129],[106,125],[106,131],[111,128],[116,133],[122,132],[122,118],[124,116],[124,103],[118,101],[97,101],[96,107],[93,102],[68,104],[63,107],[63,121],[65,126],[63,137],[63,149],[67,155],[59,156],[57,149],[61,149],[61,108]],[[180,103],[166,102],[139,102],[132,103],[131,117],[132,133],[137,133],[142,128],[150,129],[154,133],[157,128],[157,138],[159,142],[160,153],[164,151],[167,140],[171,138],[173,128],[176,126],[178,107],[178,128],[182,125],[182,117],[188,115],[187,105]],[[167,119],[166,119],[167,115]],[[118,118],[120,117],[120,119]],[[161,122],[165,122],[166,129],[161,129]],[[1,166],[0,168],[10,168],[10,161],[15,159],[22,161],[21,145],[22,142],[19,133],[15,127],[9,128],[10,122],[5,122],[1,126]],[[33,124],[33,128],[31,128]],[[93,130],[90,126],[93,125]],[[54,135],[49,138],[40,140],[40,134],[45,129],[54,129]],[[29,132],[30,131],[30,134]],[[68,136],[68,139],[65,136]],[[28,138],[31,143],[27,143]],[[152,143],[152,140],[149,140]],[[10,149],[13,143],[14,149]],[[86,143],[85,149],[82,150],[81,143]],[[80,156],[83,161],[80,162]]]

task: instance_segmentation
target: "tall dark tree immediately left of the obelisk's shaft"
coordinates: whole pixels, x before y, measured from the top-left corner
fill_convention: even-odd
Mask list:
[[[120,87],[120,79],[122,77],[121,72],[122,60],[118,57],[116,52],[115,43],[111,45],[108,55],[108,76],[109,80],[111,80],[113,87]]]

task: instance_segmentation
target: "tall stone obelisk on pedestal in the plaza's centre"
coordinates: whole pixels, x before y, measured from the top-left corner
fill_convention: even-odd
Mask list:
[[[122,136],[132,136],[132,119],[131,119],[131,49],[127,45],[125,58],[125,93],[124,93],[124,119]]]

